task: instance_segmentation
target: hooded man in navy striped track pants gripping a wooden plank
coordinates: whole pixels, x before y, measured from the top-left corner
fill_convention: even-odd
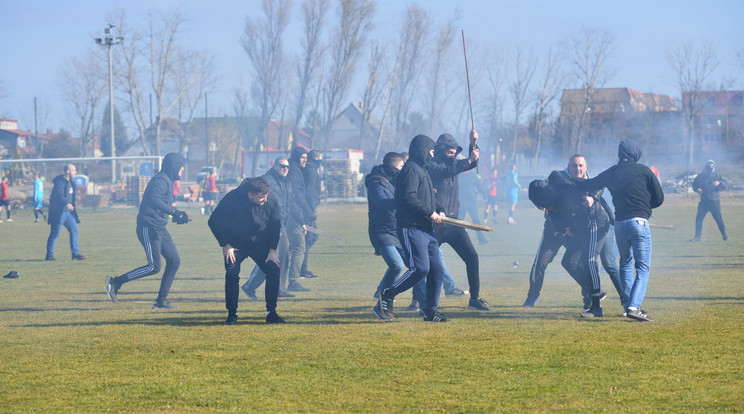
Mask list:
[[[395,279],[392,287],[380,293],[379,309],[385,319],[392,320],[395,296],[426,278],[425,322],[447,322],[437,311],[442,289],[442,261],[433,224],[442,222],[444,213],[438,208],[434,187],[427,172],[434,157],[435,142],[426,135],[417,135],[408,149],[409,158],[398,174],[395,186],[395,219],[398,239],[403,246],[408,270]]]

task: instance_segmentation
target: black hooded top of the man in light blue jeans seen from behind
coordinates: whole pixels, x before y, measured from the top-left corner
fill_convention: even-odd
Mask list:
[[[598,176],[578,183],[582,191],[596,191],[602,187],[610,190],[615,206],[615,220],[635,217],[649,219],[651,210],[664,202],[661,184],[651,170],[638,164],[641,148],[632,141],[623,140],[618,147],[620,162]]]

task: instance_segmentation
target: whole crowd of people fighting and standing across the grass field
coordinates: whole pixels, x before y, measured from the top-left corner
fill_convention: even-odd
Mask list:
[[[466,212],[474,223],[479,222],[478,209],[474,208],[476,191],[495,207],[492,199],[495,189],[479,187],[480,181],[473,173],[480,158],[478,133],[474,129],[469,139],[465,156],[450,134],[440,135],[436,142],[417,135],[407,153],[387,153],[382,164],[367,174],[369,239],[374,253],[386,264],[374,293],[377,303],[372,312],[377,318],[393,320],[396,296],[412,289],[414,300],[409,310],[418,310],[426,322],[448,320],[438,310],[439,297],[443,283],[448,295],[455,292],[455,287],[451,280],[447,282],[451,278],[443,261],[442,244],[449,244],[465,264],[469,291],[457,291],[470,294],[468,309],[491,310],[480,297],[479,257],[470,236],[463,227],[445,224],[447,218],[464,218]],[[594,178],[589,175],[586,157],[574,154],[564,170],[553,171],[547,179],[530,183],[529,199],[544,211],[545,223],[522,306],[538,304],[545,270],[564,248],[561,265],[580,288],[581,317],[604,316],[600,302],[607,291],[601,286],[601,262],[618,293],[625,316],[638,321],[652,320],[641,309],[650,275],[652,243],[648,220],[652,210],[663,203],[664,193],[658,177],[639,162],[641,155],[636,143],[623,140],[618,146],[619,162]],[[165,270],[153,309],[176,307],[169,302],[168,294],[180,257],[166,224],[169,220],[176,224],[191,221],[184,211],[176,209],[173,195],[174,183],[180,180],[184,163],[181,155],[167,154],[160,172],[147,185],[136,221],[136,234],[147,263],[120,276],[107,277],[106,292],[112,301],[118,301],[124,284],[159,273],[162,256]],[[256,300],[256,290],[262,284],[265,284],[266,322],[285,323],[276,311],[277,299],[309,291],[300,279],[318,277],[308,270],[309,252],[317,240],[315,232],[308,229],[316,230],[317,226],[321,163],[319,151],[295,147],[289,158],[278,157],[263,176],[245,179],[210,212],[208,225],[222,249],[225,267],[228,311],[225,324],[237,323],[240,290]],[[509,174],[512,177],[509,180],[514,182],[510,187],[518,186],[515,166]],[[72,260],[87,259],[78,250],[80,220],[75,208],[75,175],[75,165],[67,164],[64,173],[53,180],[48,220],[44,216],[51,226],[46,249],[48,261],[56,260],[54,247],[62,227],[70,233]],[[467,185],[468,190],[463,192],[461,185]],[[605,188],[609,190],[611,203]],[[706,162],[693,182],[700,203],[695,236],[690,241],[700,240],[702,221],[708,212],[718,224],[723,240],[728,239],[719,201],[719,192],[726,188],[726,181],[715,171],[715,162]],[[7,187],[3,187],[2,193],[7,199]],[[37,176],[34,192],[37,222],[38,215],[43,215],[42,199],[43,181]],[[515,204],[516,196],[509,201]],[[509,217],[513,218],[514,209],[510,207]],[[495,208],[493,212],[495,222]],[[9,218],[9,209],[7,214]],[[487,218],[488,211],[484,220]],[[485,244],[488,240],[479,237],[479,242]],[[255,265],[241,287],[241,264],[246,258],[251,258]]]

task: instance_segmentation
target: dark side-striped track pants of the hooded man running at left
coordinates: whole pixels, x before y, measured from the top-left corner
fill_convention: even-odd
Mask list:
[[[158,292],[157,300],[159,302],[163,301],[168,297],[173,279],[175,279],[176,272],[179,266],[181,266],[181,258],[178,256],[176,245],[173,243],[170,233],[165,228],[156,229],[138,226],[137,238],[142,243],[142,247],[145,248],[147,264],[130,270],[121,276],[117,276],[114,278],[114,281],[117,285],[121,286],[124,283],[159,273],[161,267],[160,256],[162,255],[165,258],[165,271],[160,281],[160,291]]]

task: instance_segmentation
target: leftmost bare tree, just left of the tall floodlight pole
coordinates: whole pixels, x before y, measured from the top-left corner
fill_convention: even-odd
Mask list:
[[[74,115],[75,125],[71,127],[80,135],[83,157],[88,155],[88,146],[93,142],[96,109],[106,93],[107,82],[101,76],[106,72],[103,62],[99,54],[88,51],[82,58],[67,59],[60,69],[62,93]]]

